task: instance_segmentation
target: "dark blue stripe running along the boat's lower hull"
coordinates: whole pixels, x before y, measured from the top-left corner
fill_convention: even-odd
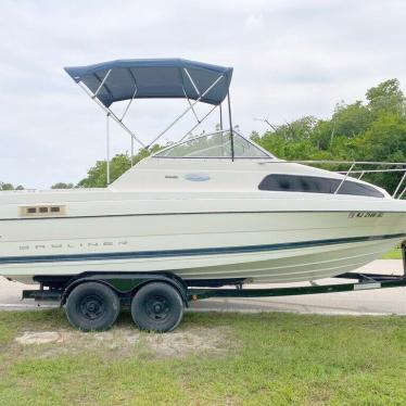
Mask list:
[[[86,253],[86,254],[64,254],[64,255],[25,255],[25,256],[3,256],[0,257],[0,265],[4,264],[33,264],[33,263],[55,263],[55,262],[80,262],[80,261],[104,261],[104,259],[137,259],[137,258],[160,258],[174,256],[196,256],[196,255],[221,255],[221,254],[243,254],[256,252],[270,252],[280,250],[295,250],[313,246],[325,246],[335,244],[347,244],[356,242],[392,240],[406,238],[406,233],[347,237],[329,240],[310,240],[282,242],[277,244],[263,245],[239,245],[239,246],[215,246],[203,249],[186,250],[164,250],[164,251],[131,251],[111,253]]]

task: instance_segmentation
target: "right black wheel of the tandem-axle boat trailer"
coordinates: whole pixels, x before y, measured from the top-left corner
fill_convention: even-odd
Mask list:
[[[142,287],[131,302],[131,316],[141,330],[166,332],[176,329],[183,316],[183,301],[168,283]]]

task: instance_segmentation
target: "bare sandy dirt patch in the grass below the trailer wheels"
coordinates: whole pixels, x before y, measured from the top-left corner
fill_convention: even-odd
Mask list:
[[[230,345],[232,343],[232,345]],[[24,331],[15,344],[25,355],[50,357],[62,354],[97,353],[106,356],[185,357],[225,355],[236,346],[226,328],[187,328],[157,334],[117,327],[110,331],[83,333],[75,330]]]

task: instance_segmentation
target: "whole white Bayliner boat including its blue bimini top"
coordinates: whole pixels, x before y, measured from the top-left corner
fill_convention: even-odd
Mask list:
[[[66,72],[107,124],[128,131],[131,149],[196,115],[198,102],[220,112],[220,129],[193,137],[198,119],[113,182],[107,168],[106,188],[0,192],[0,276],[49,286],[84,272],[172,272],[196,287],[314,281],[406,239],[404,200],[351,170],[287,162],[244,138],[232,126],[230,67],[119,60]],[[137,99],[157,98],[185,99],[188,109],[147,145],[124,118]],[[116,102],[128,102],[123,115]]]

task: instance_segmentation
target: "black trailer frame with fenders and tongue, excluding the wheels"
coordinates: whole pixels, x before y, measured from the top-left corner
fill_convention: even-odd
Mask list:
[[[291,295],[307,295],[320,293],[340,293],[363,291],[371,289],[389,289],[406,287],[406,241],[401,244],[403,256],[403,275],[383,275],[365,272],[345,272],[334,276],[333,279],[356,280],[356,282],[317,284],[312,282],[303,287],[284,288],[244,288],[246,279],[193,281],[183,280],[172,272],[84,272],[69,277],[36,277],[40,289],[24,290],[24,299],[34,299],[37,302],[59,302],[61,307],[66,304],[69,294],[80,284],[97,282],[109,287],[118,296],[120,308],[130,308],[134,297],[145,286],[164,283],[178,292],[186,307],[191,301],[210,297],[277,297]],[[216,288],[217,286],[229,288]],[[195,287],[198,286],[198,287]],[[199,288],[201,287],[201,288]],[[207,287],[207,288],[205,288]],[[169,331],[169,330],[165,330]]]

